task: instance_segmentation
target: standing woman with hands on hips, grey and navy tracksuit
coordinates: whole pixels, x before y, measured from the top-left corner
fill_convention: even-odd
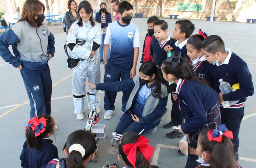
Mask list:
[[[51,114],[52,82],[48,61],[55,52],[54,37],[44,21],[45,7],[39,0],[24,3],[21,18],[0,35],[0,55],[20,69],[29,101],[30,118]],[[12,45],[13,53],[8,49]]]

